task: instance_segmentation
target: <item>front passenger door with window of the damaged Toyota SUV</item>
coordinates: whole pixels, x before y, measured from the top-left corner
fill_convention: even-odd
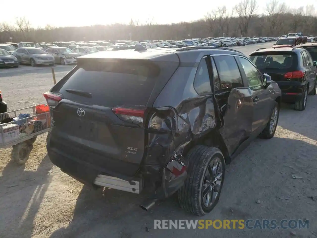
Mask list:
[[[271,92],[268,88],[263,86],[262,74],[258,71],[256,66],[245,57],[236,57],[243,78],[252,94],[251,102],[253,103],[253,117],[252,117],[252,135],[257,136],[265,125],[268,123],[273,102]]]

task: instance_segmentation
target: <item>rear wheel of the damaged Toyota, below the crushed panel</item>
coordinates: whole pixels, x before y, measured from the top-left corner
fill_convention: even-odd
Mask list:
[[[178,190],[180,206],[193,215],[203,216],[217,205],[223,187],[225,161],[214,147],[196,146],[187,155],[188,175]]]

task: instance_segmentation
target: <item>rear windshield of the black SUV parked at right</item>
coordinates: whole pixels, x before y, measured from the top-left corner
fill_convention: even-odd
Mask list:
[[[296,65],[296,55],[287,52],[259,54],[249,57],[258,69],[288,69]]]

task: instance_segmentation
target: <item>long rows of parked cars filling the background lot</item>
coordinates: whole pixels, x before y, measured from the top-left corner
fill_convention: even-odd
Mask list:
[[[152,48],[182,48],[185,46],[241,46],[247,44],[264,43],[276,40],[275,37],[207,37],[188,40],[108,40],[89,42],[20,42],[0,44],[0,49],[6,61],[0,60],[0,66],[18,67],[19,64],[37,66],[40,64],[61,65],[77,63],[77,57],[98,51],[113,51],[134,48],[136,44],[146,49]],[[8,55],[11,54],[13,57]],[[10,59],[9,59],[10,58]]]

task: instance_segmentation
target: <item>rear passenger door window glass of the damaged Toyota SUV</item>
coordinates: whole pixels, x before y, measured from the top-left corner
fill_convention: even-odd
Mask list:
[[[242,77],[233,56],[214,56],[213,58],[223,90],[230,91],[233,88],[243,87]]]

